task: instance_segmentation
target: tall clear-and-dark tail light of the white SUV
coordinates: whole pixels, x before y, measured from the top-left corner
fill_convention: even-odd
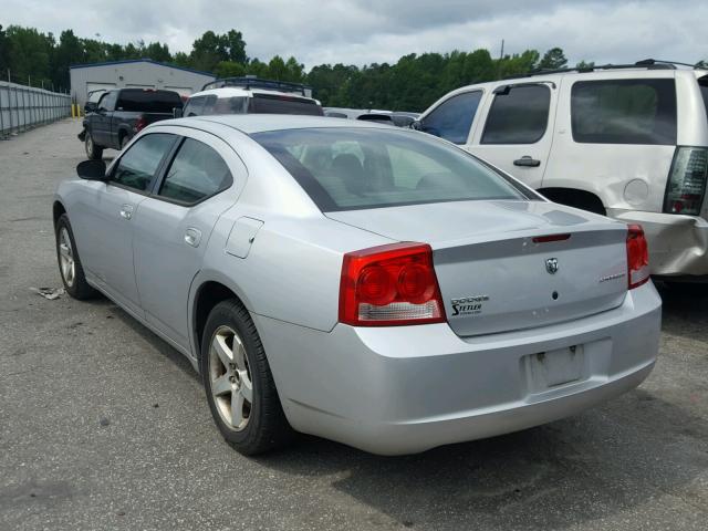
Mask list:
[[[708,148],[677,147],[666,184],[664,211],[698,216],[706,195]]]

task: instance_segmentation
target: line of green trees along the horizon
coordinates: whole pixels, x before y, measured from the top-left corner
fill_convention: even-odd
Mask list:
[[[364,66],[320,64],[309,72],[295,58],[275,55],[270,61],[249,58],[240,31],[205,32],[189,53],[171,53],[167,44],[138,41],[119,44],[80,38],[64,30],[56,39],[34,28],[0,25],[0,80],[69,91],[69,66],[82,63],[152,59],[211,72],[218,77],[257,75],[306,83],[326,106],[423,111],[447,92],[471,83],[527,74],[539,69],[560,69],[568,60],[560,48],[543,55],[537,50],[492,58],[489,50],[408,54],[396,63]],[[592,66],[592,63],[581,63]]]

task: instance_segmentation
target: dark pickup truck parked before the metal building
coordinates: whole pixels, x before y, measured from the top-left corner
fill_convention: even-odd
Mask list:
[[[94,112],[84,118],[79,139],[91,159],[100,159],[105,148],[123,149],[146,125],[174,116],[183,107],[178,93],[152,88],[117,88],[101,96]]]

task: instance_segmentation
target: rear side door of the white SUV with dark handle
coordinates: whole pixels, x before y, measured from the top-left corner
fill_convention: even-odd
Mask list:
[[[554,83],[519,83],[497,86],[485,104],[470,153],[539,188],[551,144],[558,97]]]

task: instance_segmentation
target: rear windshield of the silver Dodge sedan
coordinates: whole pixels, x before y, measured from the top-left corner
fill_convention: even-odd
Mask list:
[[[471,155],[412,131],[327,127],[251,136],[325,212],[529,198]]]

